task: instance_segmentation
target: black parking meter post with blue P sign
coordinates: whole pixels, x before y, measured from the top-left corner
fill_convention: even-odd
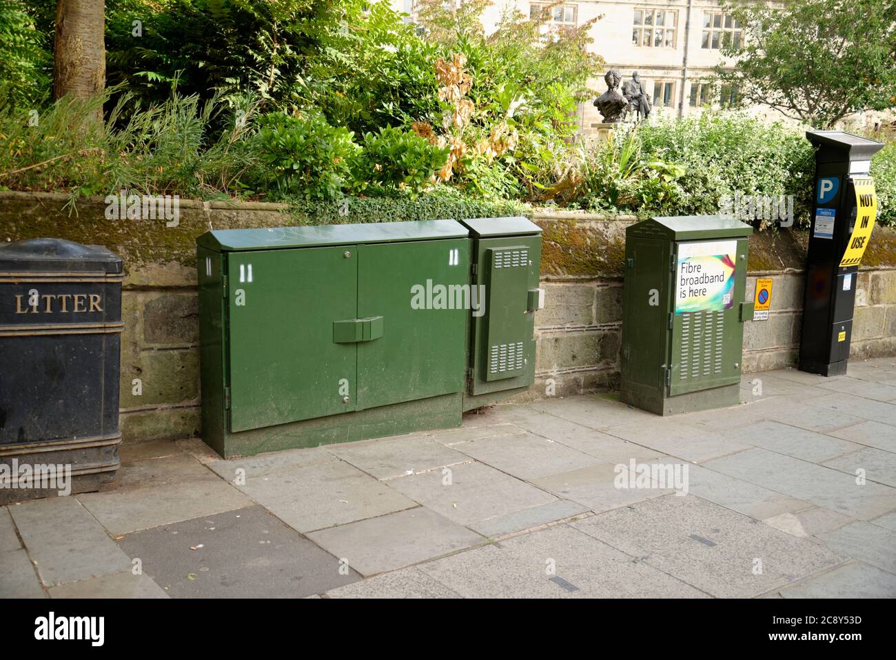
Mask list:
[[[807,131],[806,138],[817,151],[799,369],[837,376],[846,373],[858,260],[866,243],[853,234],[856,186],[868,184],[871,158],[883,143],[842,131]],[[873,225],[873,214],[870,220]]]

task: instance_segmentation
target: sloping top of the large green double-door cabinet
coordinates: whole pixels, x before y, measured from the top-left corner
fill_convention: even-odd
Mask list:
[[[392,243],[407,240],[463,239],[469,235],[453,220],[358,222],[307,227],[271,227],[252,230],[212,230],[196,239],[196,245],[216,252],[325,247],[359,243]]]

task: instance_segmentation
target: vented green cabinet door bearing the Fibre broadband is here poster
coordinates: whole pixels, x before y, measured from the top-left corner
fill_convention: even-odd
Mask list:
[[[676,245],[670,395],[740,382],[747,243],[719,239]]]

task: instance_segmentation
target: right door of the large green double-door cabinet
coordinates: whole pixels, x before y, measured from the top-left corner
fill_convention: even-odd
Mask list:
[[[463,388],[469,242],[358,246],[358,317],[382,317],[358,343],[358,410]]]

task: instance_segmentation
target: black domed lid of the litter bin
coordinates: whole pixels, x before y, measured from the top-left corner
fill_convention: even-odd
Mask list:
[[[64,239],[0,245],[0,273],[121,273],[121,257],[106,247]]]

